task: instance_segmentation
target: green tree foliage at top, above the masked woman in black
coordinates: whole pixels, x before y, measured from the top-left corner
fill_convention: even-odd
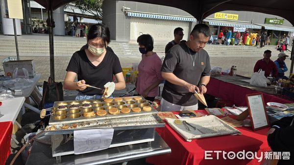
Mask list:
[[[93,14],[95,20],[102,21],[102,2],[103,0],[79,0],[73,2],[73,4],[80,9],[83,14]]]

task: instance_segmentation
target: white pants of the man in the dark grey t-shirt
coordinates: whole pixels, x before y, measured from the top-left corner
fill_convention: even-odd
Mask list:
[[[163,98],[161,99],[160,102],[160,110],[161,112],[166,112],[166,111],[182,111],[182,110],[197,110],[198,109],[198,103],[195,105],[190,105],[190,106],[181,106],[177,105],[174,103],[170,103]]]

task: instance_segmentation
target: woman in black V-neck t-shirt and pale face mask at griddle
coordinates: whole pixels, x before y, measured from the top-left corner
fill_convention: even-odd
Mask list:
[[[73,53],[63,87],[79,90],[75,100],[101,99],[102,90],[87,88],[85,84],[103,89],[105,83],[112,82],[113,75],[117,80],[115,89],[125,88],[120,60],[116,54],[106,49],[109,42],[109,28],[98,23],[89,29],[88,48]],[[76,76],[77,82],[74,82]]]

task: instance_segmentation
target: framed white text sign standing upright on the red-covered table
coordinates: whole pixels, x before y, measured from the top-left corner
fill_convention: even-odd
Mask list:
[[[254,127],[259,128],[268,125],[261,95],[249,96],[248,103],[250,106]]]

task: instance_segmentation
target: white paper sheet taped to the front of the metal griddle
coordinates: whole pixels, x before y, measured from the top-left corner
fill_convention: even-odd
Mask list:
[[[114,129],[87,129],[73,131],[74,154],[94,152],[109,147]]]

